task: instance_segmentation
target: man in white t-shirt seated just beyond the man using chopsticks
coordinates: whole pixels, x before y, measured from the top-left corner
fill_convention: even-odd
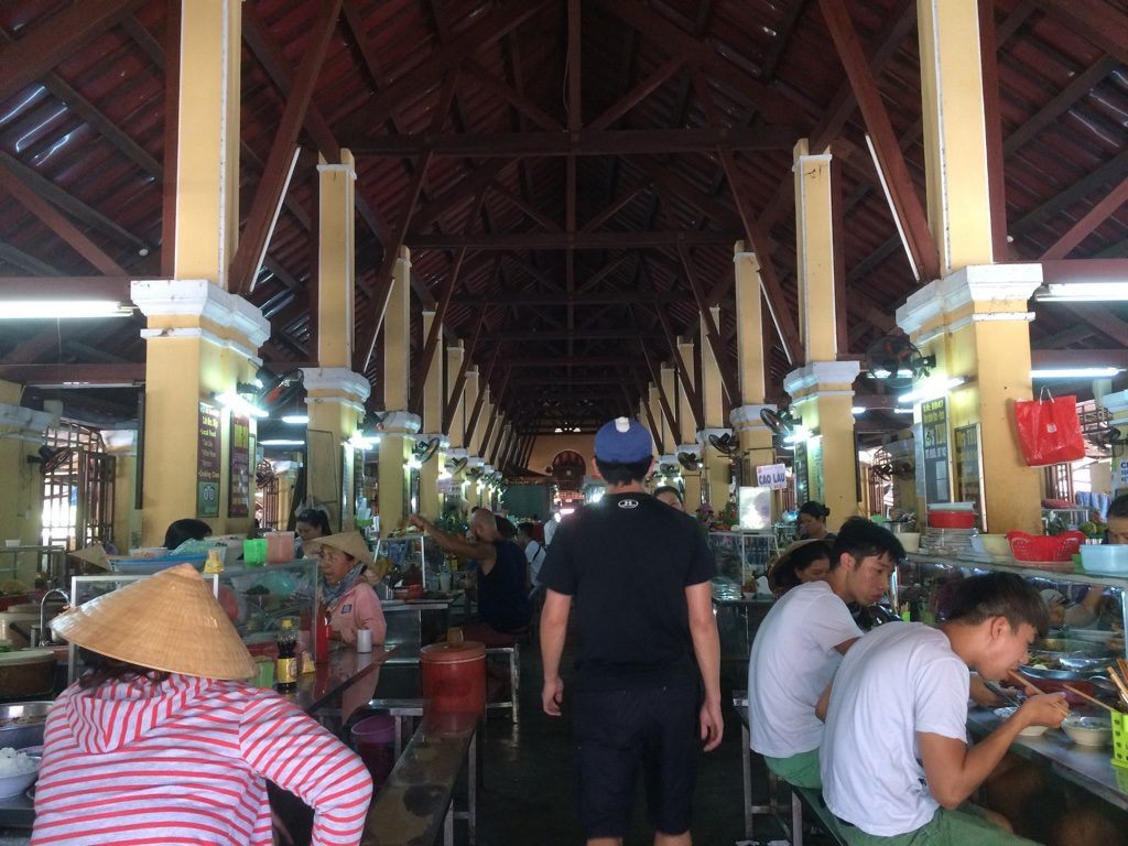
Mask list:
[[[822,722],[814,706],[862,636],[846,603],[881,599],[905,550],[891,531],[856,519],[841,527],[832,549],[823,540],[800,540],[781,564],[786,556],[810,556],[811,545],[830,558],[830,572],[825,581],[792,588],[760,624],[748,662],[748,728],[752,749],[773,773],[817,788]]]

